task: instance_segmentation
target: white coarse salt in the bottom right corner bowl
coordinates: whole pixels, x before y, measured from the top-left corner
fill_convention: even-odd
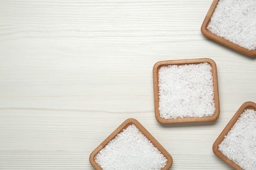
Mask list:
[[[247,109],[219,144],[219,151],[242,169],[256,169],[256,111]]]

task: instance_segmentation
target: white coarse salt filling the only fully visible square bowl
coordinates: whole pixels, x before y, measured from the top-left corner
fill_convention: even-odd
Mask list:
[[[215,103],[211,69],[209,63],[161,67],[158,73],[161,118],[212,116]]]

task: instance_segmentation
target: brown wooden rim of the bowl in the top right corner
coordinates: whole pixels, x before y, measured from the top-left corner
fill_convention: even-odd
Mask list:
[[[205,37],[208,39],[211,39],[213,41],[219,42],[220,44],[223,44],[224,46],[227,46],[228,48],[232,48],[233,50],[236,50],[238,52],[241,52],[242,54],[245,54],[247,56],[256,56],[256,50],[248,50],[242,46],[239,46],[237,44],[234,44],[231,41],[228,41],[222,37],[219,37],[218,35],[215,35],[209,29],[207,29],[207,25],[211,21],[211,16],[213,16],[213,13],[215,11],[215,8],[217,7],[219,0],[214,0],[213,4],[211,5],[207,15],[205,16],[205,19],[203,21],[201,31]]]

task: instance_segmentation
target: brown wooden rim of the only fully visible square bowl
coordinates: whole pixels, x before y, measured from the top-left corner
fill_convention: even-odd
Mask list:
[[[159,69],[167,65],[188,65],[188,64],[200,64],[209,63],[211,65],[211,73],[213,75],[213,90],[214,90],[214,102],[215,102],[215,113],[213,116],[205,116],[202,118],[171,118],[163,119],[159,112]],[[153,81],[154,81],[154,105],[155,105],[155,116],[156,120],[161,124],[173,124],[173,123],[186,123],[186,122],[209,122],[216,120],[219,117],[219,89],[218,89],[218,78],[217,78],[217,67],[215,62],[209,58],[202,59],[179,59],[179,60],[169,60],[169,61],[159,61],[153,67]]]

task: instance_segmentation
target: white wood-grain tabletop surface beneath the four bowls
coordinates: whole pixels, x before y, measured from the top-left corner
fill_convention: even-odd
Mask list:
[[[173,169],[231,169],[211,149],[245,101],[256,61],[200,32],[211,0],[0,1],[0,169],[93,169],[89,154],[136,118],[173,156]],[[152,67],[217,63],[214,123],[162,126]]]

